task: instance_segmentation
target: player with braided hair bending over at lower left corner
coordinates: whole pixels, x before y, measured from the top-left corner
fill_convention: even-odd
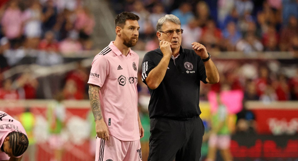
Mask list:
[[[0,111],[0,161],[21,161],[28,144],[27,133],[22,124]]]

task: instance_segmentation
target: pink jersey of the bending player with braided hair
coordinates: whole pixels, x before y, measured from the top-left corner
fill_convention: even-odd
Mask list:
[[[18,131],[18,132],[22,132],[27,136],[27,133],[24,129],[24,127],[22,126],[22,124],[15,120],[13,117],[11,117],[10,115],[8,115],[7,113],[0,111],[0,147],[2,146],[5,137],[13,131]],[[22,156],[22,155],[21,155]],[[21,157],[19,156],[19,157]],[[4,159],[4,158],[10,158],[8,157],[7,154],[5,154],[4,152],[0,151],[0,160]]]

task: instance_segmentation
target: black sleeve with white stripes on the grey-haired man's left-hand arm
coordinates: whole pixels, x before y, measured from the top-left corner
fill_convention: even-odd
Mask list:
[[[150,58],[150,51],[145,54],[143,62],[142,62],[142,81],[147,85],[146,78],[150,71],[156,67],[153,60]]]

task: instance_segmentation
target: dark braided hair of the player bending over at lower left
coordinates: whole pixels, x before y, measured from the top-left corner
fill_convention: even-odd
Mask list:
[[[28,148],[28,137],[21,132],[10,132],[9,136],[10,147],[13,150],[13,156],[18,157],[22,155]]]

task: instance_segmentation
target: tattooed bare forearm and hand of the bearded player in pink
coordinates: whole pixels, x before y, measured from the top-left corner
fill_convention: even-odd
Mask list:
[[[99,90],[100,90],[99,86],[89,84],[90,105],[94,116],[97,136],[104,140],[109,140],[108,127],[103,120],[103,114],[101,112]]]

